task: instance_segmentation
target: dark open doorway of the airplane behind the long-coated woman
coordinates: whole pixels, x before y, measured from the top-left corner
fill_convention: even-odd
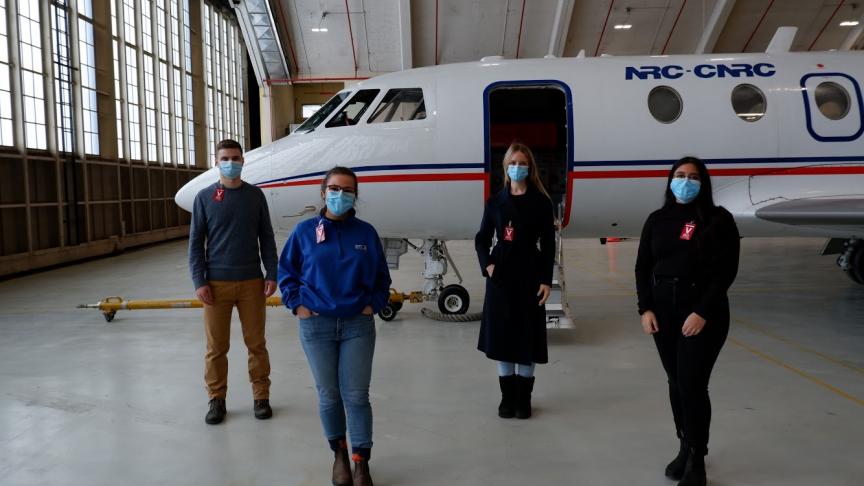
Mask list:
[[[502,82],[486,90],[486,170],[489,191],[504,185],[504,153],[513,142],[534,153],[540,179],[563,217],[567,200],[568,105],[566,85],[557,82]]]

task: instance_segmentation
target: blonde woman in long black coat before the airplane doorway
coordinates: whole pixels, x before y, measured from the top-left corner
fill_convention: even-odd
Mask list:
[[[549,361],[544,304],[555,263],[552,201],[525,145],[514,143],[504,154],[504,189],[487,201],[474,247],[486,277],[477,349],[498,361],[498,416],[525,419],[534,364]]]

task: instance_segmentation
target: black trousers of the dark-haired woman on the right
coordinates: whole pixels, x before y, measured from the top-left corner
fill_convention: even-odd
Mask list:
[[[660,280],[653,290],[660,329],[654,334],[654,343],[669,381],[675,430],[690,447],[704,454],[711,426],[708,381],[729,334],[728,306],[726,312],[717,313],[719,317],[707,320],[699,334],[685,337],[681,327],[692,312],[697,297],[695,287],[688,282]]]

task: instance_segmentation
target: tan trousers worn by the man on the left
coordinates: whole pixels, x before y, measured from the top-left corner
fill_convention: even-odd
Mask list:
[[[213,305],[204,305],[207,354],[204,382],[210,398],[225,398],[228,391],[228,348],[231,345],[231,312],[237,306],[243,341],[249,351],[249,381],[255,400],[270,397],[270,356],[264,338],[267,316],[264,280],[209,282]]]

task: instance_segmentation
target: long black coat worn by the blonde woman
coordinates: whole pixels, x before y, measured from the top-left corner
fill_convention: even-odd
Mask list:
[[[525,198],[520,199],[525,204],[522,214],[530,217],[520,217],[514,197]],[[508,224],[513,226],[512,241],[504,237]],[[493,235],[497,237],[494,247]],[[486,277],[477,349],[497,361],[547,363],[546,308],[537,305],[537,292],[541,283],[552,284],[552,201],[530,184],[523,196],[511,196],[510,188],[505,188],[487,201],[474,248]],[[495,270],[490,278],[486,267],[492,263]]]

